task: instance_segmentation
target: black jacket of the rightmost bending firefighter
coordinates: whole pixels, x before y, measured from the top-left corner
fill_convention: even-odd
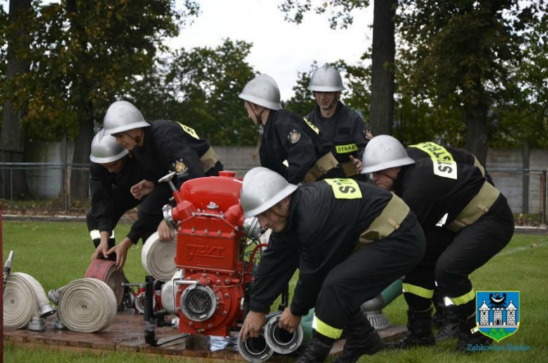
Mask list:
[[[456,178],[456,179],[455,179]],[[480,191],[485,177],[474,165],[436,163],[420,158],[405,165],[394,183],[394,193],[411,208],[424,232],[428,232],[447,214],[452,222]]]

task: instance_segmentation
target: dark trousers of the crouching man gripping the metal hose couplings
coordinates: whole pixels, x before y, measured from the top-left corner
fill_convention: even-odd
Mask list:
[[[316,300],[315,315],[333,328],[344,329],[363,303],[414,269],[425,249],[424,232],[410,213],[397,231],[365,244],[327,274]]]

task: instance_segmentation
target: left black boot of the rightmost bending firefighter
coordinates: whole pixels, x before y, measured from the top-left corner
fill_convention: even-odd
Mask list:
[[[423,312],[407,310],[407,335],[396,343],[389,343],[386,348],[408,349],[436,344],[432,332],[432,308]]]

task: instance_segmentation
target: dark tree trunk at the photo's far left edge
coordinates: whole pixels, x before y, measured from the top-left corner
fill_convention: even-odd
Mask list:
[[[24,13],[30,9],[31,0],[10,1],[9,21],[11,25],[18,25],[18,28],[10,34],[8,39],[7,82],[30,70],[30,62],[18,57],[18,53],[30,45],[28,37],[25,36],[28,32],[27,21],[20,18],[24,17]],[[21,104],[15,105],[9,96],[2,109],[0,162],[22,163],[25,161],[25,129],[21,127],[21,120],[27,112]],[[25,170],[3,169],[0,174],[0,184],[1,198],[25,198],[30,195]]]

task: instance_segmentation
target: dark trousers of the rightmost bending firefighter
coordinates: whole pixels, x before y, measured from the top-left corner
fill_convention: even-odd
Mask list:
[[[507,246],[514,234],[514,216],[502,194],[489,211],[458,233],[438,231],[428,240],[421,264],[405,276],[404,283],[433,290],[434,281],[443,296],[459,298],[473,291],[469,275]],[[451,236],[454,236],[451,240]],[[431,300],[404,293],[411,309],[426,310]],[[476,311],[475,299],[455,304],[455,313],[469,317]]]

